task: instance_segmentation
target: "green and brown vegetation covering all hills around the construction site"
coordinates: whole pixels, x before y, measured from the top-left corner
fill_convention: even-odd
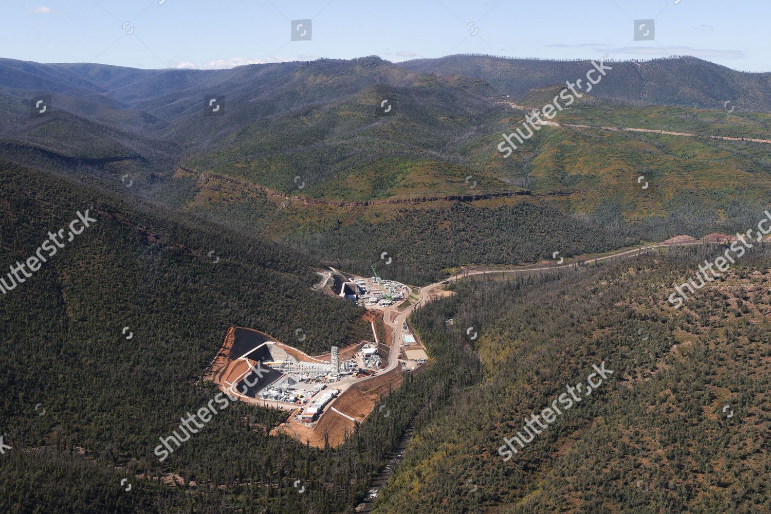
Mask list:
[[[769,208],[771,76],[611,62],[504,160],[501,134],[588,66],[0,59],[0,274],[96,217],[0,291],[0,512],[771,512],[771,244],[667,301]],[[402,284],[346,300],[373,266]],[[237,385],[208,374],[234,327],[295,347],[267,365],[305,352],[328,375],[281,410],[228,404],[160,461]],[[602,387],[504,460],[601,362]],[[315,444],[295,414],[321,381],[366,401]]]

